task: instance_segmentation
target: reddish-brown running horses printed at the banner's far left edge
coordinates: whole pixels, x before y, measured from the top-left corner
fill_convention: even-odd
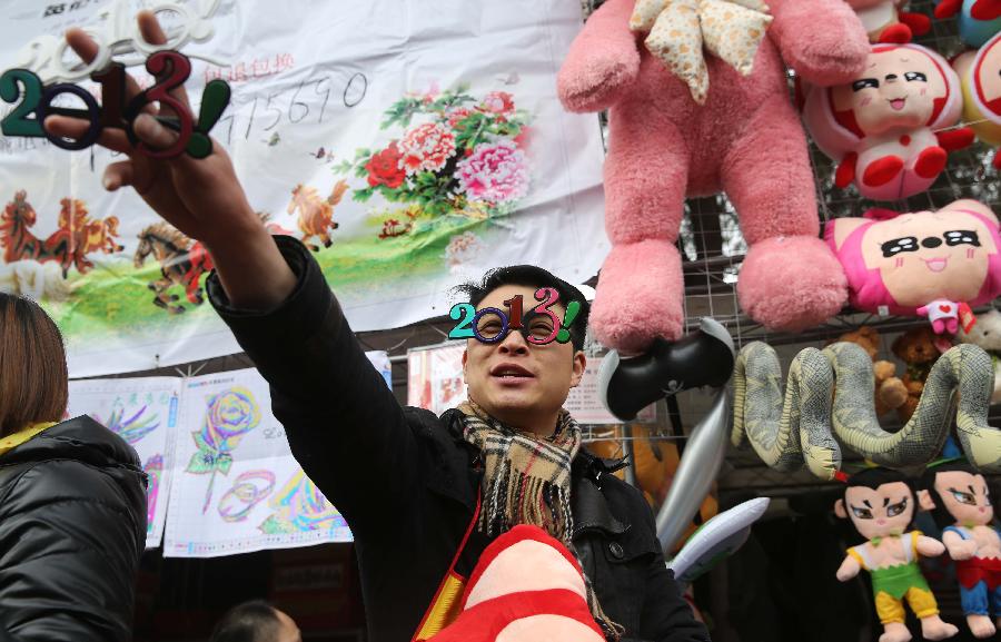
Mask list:
[[[117,243],[118,218],[90,218],[87,205],[79,199],[63,198],[60,201],[59,228],[47,239],[34,236],[31,228],[38,215],[28,203],[28,194],[21,189],[7,204],[0,215],[0,247],[3,261],[36,260],[58,261],[62,267],[62,278],[69,276],[71,267],[87,274],[93,264],[87,255],[95,251],[115,254],[123,247]]]

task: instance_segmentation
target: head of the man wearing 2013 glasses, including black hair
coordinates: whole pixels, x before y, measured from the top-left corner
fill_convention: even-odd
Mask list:
[[[553,288],[559,300],[549,309],[554,320],[545,314],[529,314],[541,302],[535,298],[539,288]],[[468,339],[463,355],[463,373],[469,387],[469,398],[490,416],[516,428],[549,434],[556,427],[556,416],[569,389],[581,383],[586,359],[584,337],[589,305],[581,290],[545,269],[529,265],[502,267],[488,271],[483,280],[457,288],[469,296],[477,310],[493,307],[511,316],[509,304],[519,296],[523,302],[523,324],[528,336],[538,339],[559,329],[569,302],[578,302],[579,313],[569,326],[571,340],[553,340],[545,345],[531,343],[526,334],[509,330],[497,343]],[[496,315],[483,315],[477,328],[485,336],[500,329]]]

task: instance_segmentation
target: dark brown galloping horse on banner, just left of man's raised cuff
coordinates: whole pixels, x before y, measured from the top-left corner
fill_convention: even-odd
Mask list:
[[[185,288],[188,302],[201,305],[205,300],[201,275],[212,270],[212,259],[201,243],[191,243],[166,223],[155,223],[139,233],[139,247],[133,261],[136,268],[142,267],[150,255],[160,264],[161,274],[161,278],[149,283],[149,289],[156,293],[153,305],[170,314],[185,312],[185,306],[176,304],[180,297],[169,292],[175,285]]]

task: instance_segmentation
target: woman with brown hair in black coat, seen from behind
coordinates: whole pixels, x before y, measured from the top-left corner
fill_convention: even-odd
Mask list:
[[[0,642],[132,638],[146,475],[90,417],[58,423],[67,397],[56,324],[0,294]]]

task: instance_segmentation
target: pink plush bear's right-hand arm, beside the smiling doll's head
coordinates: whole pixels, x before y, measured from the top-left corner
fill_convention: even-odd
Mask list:
[[[769,34],[785,63],[811,85],[852,81],[870,52],[862,21],[844,0],[769,0]]]

